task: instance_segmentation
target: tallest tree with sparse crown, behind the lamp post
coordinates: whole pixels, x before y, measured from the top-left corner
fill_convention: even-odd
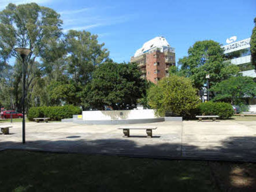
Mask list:
[[[17,65],[22,60],[20,55],[14,50],[15,47],[26,47],[32,50],[26,60],[26,86],[25,92],[28,93],[28,99],[31,98],[31,92],[35,78],[44,66],[40,65],[39,59],[47,51],[47,44],[51,39],[57,39],[61,36],[60,14],[48,7],[39,6],[36,3],[24,5],[14,5],[10,3],[6,9],[0,12],[0,55],[6,61],[11,57],[16,58]],[[16,83],[21,82],[20,67],[16,67]],[[16,88],[17,107],[20,108],[18,95],[18,85]],[[29,103],[29,102],[28,102]]]

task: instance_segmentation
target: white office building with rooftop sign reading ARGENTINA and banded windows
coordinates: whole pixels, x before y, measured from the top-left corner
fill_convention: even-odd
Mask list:
[[[229,43],[224,48],[224,54],[227,61],[238,65],[243,76],[253,77],[256,79],[255,66],[251,63],[250,52],[251,38],[240,40],[239,42]]]

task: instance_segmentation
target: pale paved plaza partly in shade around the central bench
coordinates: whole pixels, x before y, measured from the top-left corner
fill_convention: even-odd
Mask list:
[[[146,130],[131,130],[131,137],[124,138],[123,131],[117,129],[120,125],[27,122],[27,142],[22,144],[22,123],[12,123],[10,134],[0,135],[0,150],[256,161],[256,121],[177,121],[141,125],[158,127],[153,130],[153,138],[146,137]]]

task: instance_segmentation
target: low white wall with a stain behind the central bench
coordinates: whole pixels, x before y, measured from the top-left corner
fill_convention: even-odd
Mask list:
[[[83,111],[84,121],[153,119],[154,110]]]

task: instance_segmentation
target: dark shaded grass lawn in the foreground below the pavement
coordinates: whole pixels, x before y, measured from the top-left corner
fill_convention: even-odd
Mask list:
[[[256,190],[250,163],[18,150],[0,152],[0,162],[0,191]]]

